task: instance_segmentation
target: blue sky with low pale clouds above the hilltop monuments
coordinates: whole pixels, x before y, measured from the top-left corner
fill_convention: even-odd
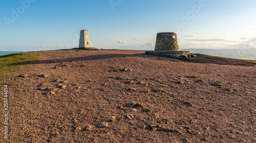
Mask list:
[[[104,0],[0,2],[0,50],[78,47],[80,30],[91,46],[152,49],[159,32],[177,32],[180,49],[256,48],[253,0]]]

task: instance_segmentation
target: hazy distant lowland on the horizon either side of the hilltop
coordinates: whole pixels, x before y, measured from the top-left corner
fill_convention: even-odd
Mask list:
[[[180,49],[189,50],[191,53],[202,53],[224,58],[256,60],[256,48],[251,49]],[[0,55],[17,53],[21,51],[0,51]]]

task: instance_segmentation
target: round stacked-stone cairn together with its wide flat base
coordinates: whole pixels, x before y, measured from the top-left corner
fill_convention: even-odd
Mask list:
[[[154,51],[146,54],[190,54],[190,51],[180,51],[177,34],[174,32],[158,33]]]

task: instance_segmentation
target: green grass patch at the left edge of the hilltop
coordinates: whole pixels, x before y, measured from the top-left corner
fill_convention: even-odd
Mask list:
[[[38,54],[32,53],[12,53],[0,56],[0,80],[5,80],[14,70],[18,70],[21,62],[39,60]]]

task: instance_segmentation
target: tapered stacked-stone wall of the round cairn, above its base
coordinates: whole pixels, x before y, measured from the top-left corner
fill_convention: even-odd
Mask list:
[[[180,50],[176,33],[158,33],[155,51]]]

